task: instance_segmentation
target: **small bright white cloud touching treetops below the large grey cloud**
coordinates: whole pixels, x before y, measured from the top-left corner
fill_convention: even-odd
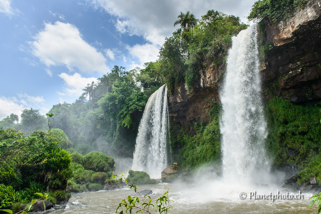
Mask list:
[[[137,58],[140,62],[139,67],[143,67],[145,62],[154,62],[157,60],[159,54],[159,47],[152,44],[136,44],[132,47],[127,46],[128,52],[134,58]],[[137,66],[135,66],[137,67]]]

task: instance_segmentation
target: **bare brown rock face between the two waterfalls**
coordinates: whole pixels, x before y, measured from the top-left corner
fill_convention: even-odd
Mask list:
[[[220,103],[218,88],[224,72],[225,64],[216,67],[212,63],[199,69],[200,78],[191,91],[188,91],[185,81],[175,86],[168,99],[169,119],[174,123],[174,132],[178,130],[177,126],[190,130],[196,121],[198,124],[202,120],[208,123],[209,108],[213,103]]]

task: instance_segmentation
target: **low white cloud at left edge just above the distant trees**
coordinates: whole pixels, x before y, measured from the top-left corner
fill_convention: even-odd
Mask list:
[[[14,113],[18,116],[21,115],[21,111],[24,108],[22,104],[17,103],[18,100],[16,97],[0,97],[0,120],[10,116],[10,114]]]

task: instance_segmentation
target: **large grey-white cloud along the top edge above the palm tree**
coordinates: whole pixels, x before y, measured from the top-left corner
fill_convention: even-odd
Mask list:
[[[165,37],[175,30],[173,24],[180,12],[191,11],[197,18],[207,10],[244,16],[250,12],[256,0],[91,0],[96,8],[103,8],[115,16],[115,27],[120,33],[143,36],[153,44],[162,45]],[[231,6],[233,5],[233,6]],[[176,27],[178,28],[178,27]]]

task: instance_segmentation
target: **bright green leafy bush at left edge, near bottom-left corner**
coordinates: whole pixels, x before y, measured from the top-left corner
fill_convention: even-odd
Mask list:
[[[8,208],[20,200],[19,192],[16,192],[12,186],[0,184],[0,208]]]

